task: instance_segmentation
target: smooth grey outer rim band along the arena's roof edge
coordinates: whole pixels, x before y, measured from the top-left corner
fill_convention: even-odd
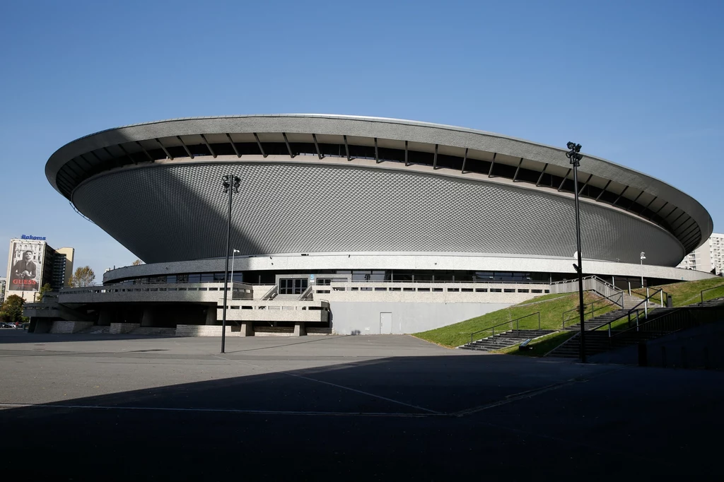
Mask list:
[[[46,177],[59,190],[56,176],[75,156],[111,145],[182,135],[224,134],[240,132],[285,132],[316,135],[348,135],[361,138],[408,140],[429,145],[471,148],[504,153],[531,161],[568,167],[565,149],[532,143],[528,140],[481,130],[444,124],[415,122],[382,117],[358,117],[328,114],[264,114],[224,117],[168,119],[102,130],[78,138],[59,148],[46,163]],[[595,156],[585,155],[585,172],[644,190],[662,198],[689,214],[702,232],[701,245],[713,232],[710,214],[698,201],[667,183],[625,166]]]

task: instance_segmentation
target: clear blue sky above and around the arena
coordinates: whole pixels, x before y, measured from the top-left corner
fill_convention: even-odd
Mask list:
[[[357,114],[575,140],[693,195],[724,230],[723,1],[28,0],[0,18],[2,276],[20,234],[75,247],[98,281],[130,264],[43,169],[75,138],[172,117]]]

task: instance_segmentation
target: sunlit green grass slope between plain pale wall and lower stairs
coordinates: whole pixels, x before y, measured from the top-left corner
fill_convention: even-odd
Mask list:
[[[502,324],[497,326],[494,331],[499,333],[500,331],[507,331],[510,329],[537,329],[538,328],[538,316],[534,315],[536,311],[540,311],[542,329],[560,329],[563,313],[578,307],[578,293],[568,293],[565,295],[546,295],[544,297],[536,297],[534,300],[526,300],[519,305],[511,306],[502,310],[497,310],[492,313],[487,313],[483,316],[471,318],[460,323],[452,324],[449,326],[442,326],[429,331],[422,331],[421,333],[415,333],[414,336],[441,344],[445,347],[458,347],[461,344],[470,342],[470,335],[474,331],[484,330],[477,333],[474,338],[481,339],[489,337],[493,334],[493,330],[489,329],[491,326]],[[586,292],[584,294],[584,303],[591,303],[594,300],[600,300],[601,298],[592,293]],[[538,302],[538,303],[531,303]],[[617,308],[613,303],[603,301],[599,305],[594,305],[596,311],[595,315],[606,313],[607,311]],[[523,318],[518,324],[511,323],[510,321],[515,318],[521,318],[521,316],[528,316]],[[576,311],[568,313],[568,316],[575,318],[577,316]],[[586,310],[586,319],[591,318],[590,308]],[[568,321],[567,324],[574,324],[576,321]]]

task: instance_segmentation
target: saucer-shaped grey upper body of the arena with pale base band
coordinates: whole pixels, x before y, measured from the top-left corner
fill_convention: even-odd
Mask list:
[[[563,148],[489,132],[294,114],[104,130],[56,151],[46,176],[148,263],[138,271],[144,276],[222,267],[222,177],[235,174],[241,182],[231,247],[240,258],[269,261],[237,260],[240,271],[424,267],[553,279],[573,272],[571,168]],[[578,191],[584,271],[591,274],[638,276],[642,251],[647,266],[673,267],[712,232],[709,213],[689,195],[587,153]],[[273,265],[274,255],[308,258],[285,268]],[[200,260],[209,263],[178,264]],[[647,276],[678,279],[662,273]]]

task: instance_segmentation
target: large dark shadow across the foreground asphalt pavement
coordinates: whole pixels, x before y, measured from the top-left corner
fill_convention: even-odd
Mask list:
[[[28,480],[691,480],[717,469],[722,381],[502,356],[381,358],[8,407],[4,439],[23,449],[3,465]]]

